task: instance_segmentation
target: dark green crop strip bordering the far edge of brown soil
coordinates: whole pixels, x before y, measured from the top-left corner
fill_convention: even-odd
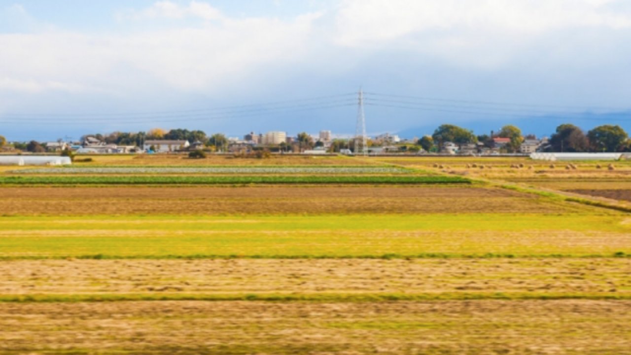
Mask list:
[[[0,184],[453,184],[459,176],[3,176]]]

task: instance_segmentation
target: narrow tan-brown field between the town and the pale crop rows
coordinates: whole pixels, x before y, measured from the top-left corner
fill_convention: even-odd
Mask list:
[[[309,155],[272,155],[267,159],[235,158],[233,155],[213,155],[206,159],[189,159],[186,154],[173,155],[91,155],[93,162],[75,165],[375,165],[377,161],[366,160],[360,157],[325,156],[314,157]],[[83,156],[79,157],[80,159]]]

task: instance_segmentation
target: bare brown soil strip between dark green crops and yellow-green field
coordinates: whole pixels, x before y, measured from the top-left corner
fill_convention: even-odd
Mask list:
[[[473,187],[0,188],[4,215],[571,212],[572,205]]]

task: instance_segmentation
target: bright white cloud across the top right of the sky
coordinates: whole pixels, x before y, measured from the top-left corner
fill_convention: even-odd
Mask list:
[[[615,0],[345,0],[338,43],[374,45],[419,32],[469,30],[543,33],[571,27],[630,28]]]

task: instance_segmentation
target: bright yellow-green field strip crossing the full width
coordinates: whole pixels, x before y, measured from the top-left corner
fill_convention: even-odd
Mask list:
[[[612,256],[627,215],[359,214],[3,217],[4,258]]]

